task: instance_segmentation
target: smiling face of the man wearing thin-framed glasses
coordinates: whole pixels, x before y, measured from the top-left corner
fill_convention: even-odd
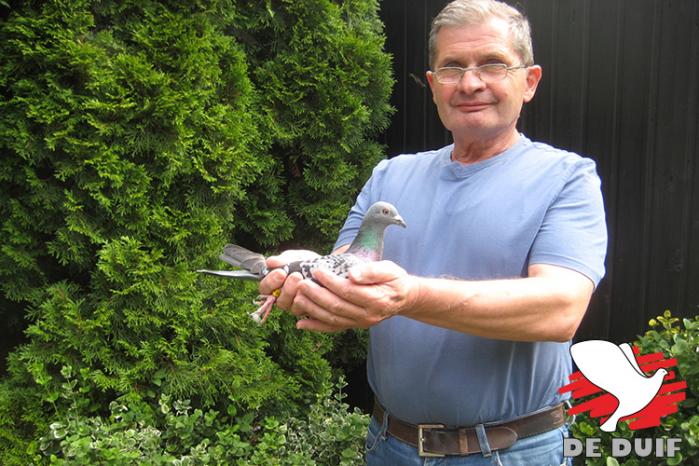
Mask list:
[[[437,34],[434,69],[470,68],[487,63],[523,65],[514,51],[507,23],[492,18],[481,25],[443,27]],[[516,131],[522,105],[541,79],[541,68],[512,70],[502,81],[484,83],[469,71],[456,84],[440,84],[430,71],[427,80],[439,117],[455,139],[492,140]]]

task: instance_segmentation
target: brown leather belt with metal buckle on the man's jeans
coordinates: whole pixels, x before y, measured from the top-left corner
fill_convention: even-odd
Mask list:
[[[373,415],[379,423],[383,422],[384,410],[376,401]],[[564,422],[563,404],[560,404],[514,421],[486,425],[485,433],[491,450],[503,450],[511,447],[518,439],[556,429]],[[481,452],[475,427],[414,425],[389,416],[388,433],[416,447],[420,456],[471,455]]]

